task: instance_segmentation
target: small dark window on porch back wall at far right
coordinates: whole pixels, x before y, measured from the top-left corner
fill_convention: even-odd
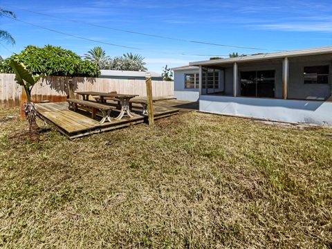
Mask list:
[[[329,66],[304,66],[304,84],[329,84]]]

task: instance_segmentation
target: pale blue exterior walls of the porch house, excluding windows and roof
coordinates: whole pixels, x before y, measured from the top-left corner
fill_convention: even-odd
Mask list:
[[[199,73],[198,70],[177,71],[174,75],[175,92],[177,92],[175,95],[179,96],[178,99],[199,100],[200,111],[209,113],[332,127],[332,102],[324,101],[332,100],[332,55],[288,58],[288,100],[282,99],[283,60],[279,58],[259,62],[238,62],[237,95],[239,97],[232,97],[233,66],[230,64],[220,65],[225,72],[225,82],[219,78],[219,84],[222,85],[220,89],[224,91],[216,95],[199,96],[199,89],[185,89],[185,73]],[[324,65],[329,65],[329,84],[304,84],[304,66]],[[265,70],[275,71],[275,98],[241,97],[241,72]]]

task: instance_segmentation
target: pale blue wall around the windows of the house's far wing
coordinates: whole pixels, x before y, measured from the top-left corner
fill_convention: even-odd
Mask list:
[[[199,69],[174,71],[174,96],[177,100],[198,101],[199,89],[185,89],[186,73],[199,73]]]

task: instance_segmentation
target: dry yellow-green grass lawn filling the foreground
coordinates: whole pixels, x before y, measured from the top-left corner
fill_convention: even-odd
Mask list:
[[[1,248],[332,247],[332,129],[192,112],[32,145],[17,113],[0,111]]]

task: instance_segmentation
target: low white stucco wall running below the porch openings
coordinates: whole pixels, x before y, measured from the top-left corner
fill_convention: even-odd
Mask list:
[[[332,127],[332,102],[201,95],[199,111]]]

